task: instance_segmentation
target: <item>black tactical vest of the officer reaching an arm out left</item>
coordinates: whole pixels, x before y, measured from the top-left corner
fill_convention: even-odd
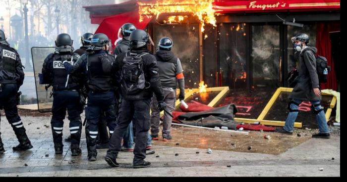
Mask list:
[[[110,91],[112,89],[112,76],[104,72],[100,55],[87,55],[88,87],[93,91]]]

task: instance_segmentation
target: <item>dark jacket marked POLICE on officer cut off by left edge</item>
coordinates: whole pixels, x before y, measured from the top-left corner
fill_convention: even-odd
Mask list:
[[[17,51],[9,45],[0,43],[0,84],[23,85],[24,71]]]

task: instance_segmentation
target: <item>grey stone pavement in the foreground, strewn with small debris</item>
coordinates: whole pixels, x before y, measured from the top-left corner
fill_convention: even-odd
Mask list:
[[[213,150],[212,154],[208,154],[205,149],[153,145],[156,153],[146,158],[152,163],[151,167],[133,169],[133,154],[120,152],[117,158],[120,166],[112,168],[104,161],[106,149],[98,150],[97,161],[87,160],[84,128],[81,139],[82,155],[71,157],[69,143],[64,142],[63,154],[56,156],[50,127],[51,118],[21,118],[34,148],[13,152],[12,147],[17,145],[18,141],[6,118],[1,116],[0,130],[6,152],[0,154],[0,177],[340,176],[340,137],[312,138],[279,155],[224,150]],[[65,120],[63,138],[67,137],[68,133],[68,121]],[[176,153],[178,156],[175,156]],[[159,157],[156,157],[158,155]],[[228,165],[231,167],[227,167]],[[320,168],[323,168],[323,171],[320,171]]]

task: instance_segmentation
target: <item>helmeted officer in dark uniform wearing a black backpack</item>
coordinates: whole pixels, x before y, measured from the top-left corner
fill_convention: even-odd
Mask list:
[[[150,128],[150,100],[153,92],[157,95],[158,108],[164,110],[164,96],[161,87],[155,56],[147,49],[150,36],[143,30],[134,30],[130,34],[130,50],[116,57],[115,69],[121,69],[122,103],[114,135],[109,142],[106,162],[113,167],[119,166],[116,157],[120,151],[120,142],[131,120],[136,127],[133,167],[151,165],[146,158],[146,142]]]

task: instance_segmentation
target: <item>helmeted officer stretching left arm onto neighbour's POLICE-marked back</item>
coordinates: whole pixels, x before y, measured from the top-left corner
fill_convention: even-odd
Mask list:
[[[115,60],[110,55],[110,40],[105,34],[95,34],[92,38],[92,46],[87,49],[88,54],[83,54],[74,64],[64,62],[68,73],[82,70],[88,78],[88,103],[86,108],[86,139],[88,160],[95,161],[98,154],[96,150],[96,137],[98,135],[98,122],[100,113],[105,112],[107,126],[112,136],[116,126],[115,113],[115,85],[112,76],[112,64]]]

